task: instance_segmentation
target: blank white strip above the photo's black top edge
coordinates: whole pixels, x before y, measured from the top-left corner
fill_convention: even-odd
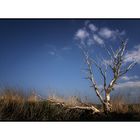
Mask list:
[[[137,18],[138,0],[1,0],[1,18]]]

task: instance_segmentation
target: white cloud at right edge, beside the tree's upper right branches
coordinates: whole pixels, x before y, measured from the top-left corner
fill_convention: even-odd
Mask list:
[[[134,48],[135,50],[126,53],[125,62],[132,62],[135,60],[137,63],[140,64],[140,45],[137,45]]]

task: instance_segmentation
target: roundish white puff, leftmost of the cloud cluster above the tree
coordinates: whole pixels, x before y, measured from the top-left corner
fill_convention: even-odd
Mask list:
[[[88,36],[89,36],[89,33],[85,29],[79,29],[76,32],[75,38],[80,39],[80,40],[84,40]]]

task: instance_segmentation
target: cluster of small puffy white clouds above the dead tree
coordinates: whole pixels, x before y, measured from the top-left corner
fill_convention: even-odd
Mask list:
[[[120,32],[118,29],[112,30],[108,27],[98,28],[89,20],[86,20],[84,27],[80,28],[76,32],[75,39],[78,39],[81,41],[81,43],[89,46],[95,43],[98,45],[103,45],[106,43],[107,39],[115,40],[117,35],[125,35],[125,31]]]

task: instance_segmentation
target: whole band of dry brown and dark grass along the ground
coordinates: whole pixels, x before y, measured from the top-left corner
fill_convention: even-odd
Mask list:
[[[65,106],[63,106],[63,104]],[[140,120],[140,104],[127,104],[121,97],[113,98],[113,110],[93,114],[90,110],[71,109],[74,106],[91,106],[79,97],[49,96],[41,99],[36,94],[5,89],[0,93],[0,120],[2,121],[133,121]],[[101,105],[95,105],[101,108]]]

